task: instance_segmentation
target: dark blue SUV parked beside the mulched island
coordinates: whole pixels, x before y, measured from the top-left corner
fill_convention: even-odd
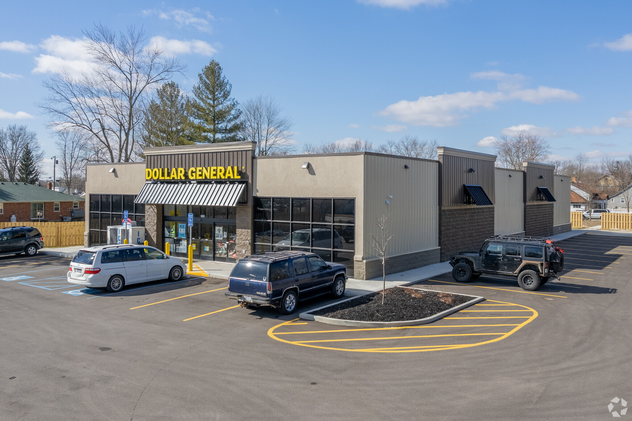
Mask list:
[[[282,314],[299,301],[332,294],[340,298],[348,277],[346,266],[325,262],[307,252],[267,252],[241,259],[228,279],[228,298],[246,305],[272,305]]]

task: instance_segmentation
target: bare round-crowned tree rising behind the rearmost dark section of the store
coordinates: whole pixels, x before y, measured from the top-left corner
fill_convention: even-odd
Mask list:
[[[511,137],[502,135],[501,140],[494,143],[494,151],[500,166],[522,169],[525,161],[545,161],[550,155],[550,142],[540,135],[522,130]]]

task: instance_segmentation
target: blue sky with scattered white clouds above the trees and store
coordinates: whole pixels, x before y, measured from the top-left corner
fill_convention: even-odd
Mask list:
[[[632,152],[632,3],[466,0],[13,2],[0,26],[0,126],[47,155],[42,80],[81,68],[82,29],[143,27],[188,66],[210,58],[238,101],[274,95],[305,142],[403,134],[492,153],[526,128],[554,159]],[[50,161],[50,159],[48,159]]]

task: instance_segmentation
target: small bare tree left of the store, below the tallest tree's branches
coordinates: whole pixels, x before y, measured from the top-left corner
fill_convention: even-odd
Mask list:
[[[67,129],[57,132],[55,145],[59,154],[59,170],[68,193],[76,185],[76,180],[83,175],[88,142],[89,137],[85,130]]]

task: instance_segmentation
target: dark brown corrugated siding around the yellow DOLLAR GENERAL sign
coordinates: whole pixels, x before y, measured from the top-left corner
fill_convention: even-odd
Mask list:
[[[248,181],[248,205],[252,205],[252,150],[226,150],[195,154],[148,155],[146,168],[185,168],[238,166],[242,169],[241,181]]]

